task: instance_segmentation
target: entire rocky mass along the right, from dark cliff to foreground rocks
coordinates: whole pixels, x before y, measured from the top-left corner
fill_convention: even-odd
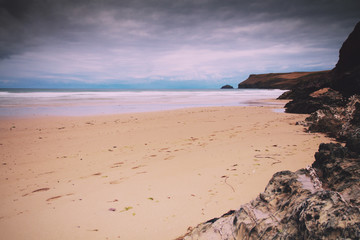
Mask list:
[[[321,144],[312,166],[275,173],[250,203],[189,229],[178,239],[360,239],[360,22],[329,72],[284,95],[286,112],[340,143]]]

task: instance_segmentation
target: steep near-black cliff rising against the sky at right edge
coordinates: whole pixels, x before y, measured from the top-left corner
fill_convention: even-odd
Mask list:
[[[334,89],[346,96],[360,94],[360,22],[343,43],[332,72]]]

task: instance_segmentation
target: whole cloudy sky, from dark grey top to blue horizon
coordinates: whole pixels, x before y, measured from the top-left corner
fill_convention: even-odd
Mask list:
[[[0,88],[220,88],[332,69],[359,0],[0,0]]]

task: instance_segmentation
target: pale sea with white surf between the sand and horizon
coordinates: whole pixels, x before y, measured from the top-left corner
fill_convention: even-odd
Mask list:
[[[0,117],[86,116],[191,107],[260,106],[278,89],[0,89]]]

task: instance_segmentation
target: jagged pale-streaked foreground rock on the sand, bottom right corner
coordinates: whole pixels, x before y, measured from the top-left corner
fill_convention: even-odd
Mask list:
[[[255,200],[178,239],[359,239],[359,179],[359,158],[322,144],[313,168],[274,174]]]

